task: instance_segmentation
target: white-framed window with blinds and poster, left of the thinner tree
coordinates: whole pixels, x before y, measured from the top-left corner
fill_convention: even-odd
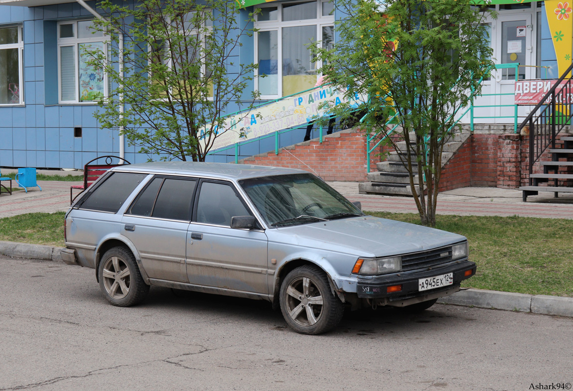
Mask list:
[[[92,21],[58,23],[58,85],[60,103],[91,103],[107,95],[107,77],[103,69],[88,62],[91,52],[106,52],[102,31]]]

